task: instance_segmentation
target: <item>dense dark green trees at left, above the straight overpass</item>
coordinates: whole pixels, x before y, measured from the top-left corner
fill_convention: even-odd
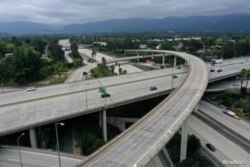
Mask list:
[[[47,45],[47,55],[42,58]],[[56,39],[12,37],[0,40],[0,81],[23,85],[79,67],[82,59],[77,44],[73,42],[71,48],[74,63],[67,64],[62,46]]]

